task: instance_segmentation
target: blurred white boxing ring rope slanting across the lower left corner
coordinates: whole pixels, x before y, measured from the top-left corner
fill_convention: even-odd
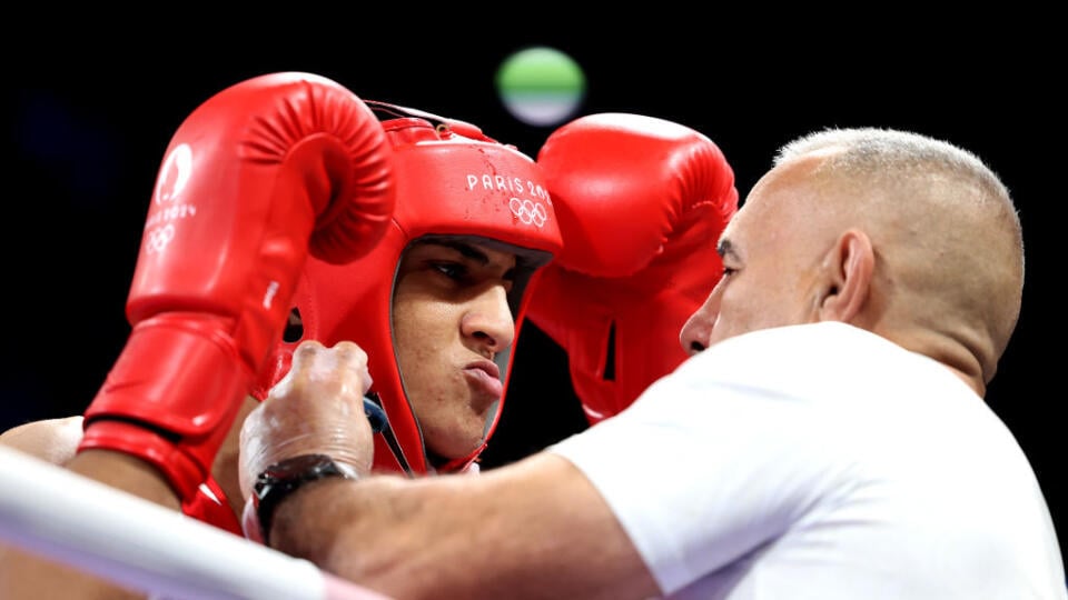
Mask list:
[[[296,559],[0,446],[0,541],[168,600],[385,600]]]

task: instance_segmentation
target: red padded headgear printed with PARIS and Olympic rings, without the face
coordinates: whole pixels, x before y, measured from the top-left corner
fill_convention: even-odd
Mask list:
[[[431,467],[397,366],[390,326],[402,253],[411,242],[428,236],[474,238],[515,252],[520,260],[508,303],[518,334],[526,284],[538,267],[560,252],[562,242],[544,178],[530,157],[471,123],[394,104],[367,104],[385,119],[382,126],[394,150],[397,199],[390,227],[375,249],[355,262],[335,266],[308,258],[293,300],[303,333],[287,334],[255,393],[265,398],[269,387],[288,372],[293,350],[301,340],[316,339],[327,347],[354,341],[370,359],[372,392],[392,430],[392,434],[375,436],[375,469],[419,474]],[[495,360],[507,387],[512,353],[503,352]],[[503,399],[491,411],[484,440],[492,436],[502,406]],[[483,448],[485,442],[438,470],[464,469]]]

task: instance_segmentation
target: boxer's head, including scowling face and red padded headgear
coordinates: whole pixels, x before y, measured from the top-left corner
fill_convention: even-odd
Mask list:
[[[376,469],[464,470],[496,427],[524,292],[561,250],[560,230],[541,170],[514,147],[471,123],[367,104],[384,119],[394,150],[393,221],[355,262],[307,263],[290,319],[299,327],[287,331],[257,396],[288,371],[300,341],[355,341],[369,357],[372,394],[389,423],[376,436]],[[483,264],[487,257],[495,260]],[[494,274],[497,261],[506,268]],[[418,282],[428,270],[441,279],[442,269],[456,267],[466,272]],[[506,303],[479,300],[497,293],[498,280]],[[427,306],[404,312],[414,302],[433,302],[436,313],[427,316]]]

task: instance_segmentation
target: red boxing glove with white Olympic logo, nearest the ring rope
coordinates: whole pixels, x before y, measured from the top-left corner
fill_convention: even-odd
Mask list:
[[[79,452],[140,457],[191,501],[281,338],[308,252],[345,262],[384,234],[390,152],[370,109],[315,74],[253,78],[197,108],[160,167],[132,331]]]

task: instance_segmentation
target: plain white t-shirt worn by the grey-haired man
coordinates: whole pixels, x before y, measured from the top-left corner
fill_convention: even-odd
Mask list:
[[[1001,420],[946,367],[843,323],[725,340],[551,451],[673,598],[1068,598]]]

